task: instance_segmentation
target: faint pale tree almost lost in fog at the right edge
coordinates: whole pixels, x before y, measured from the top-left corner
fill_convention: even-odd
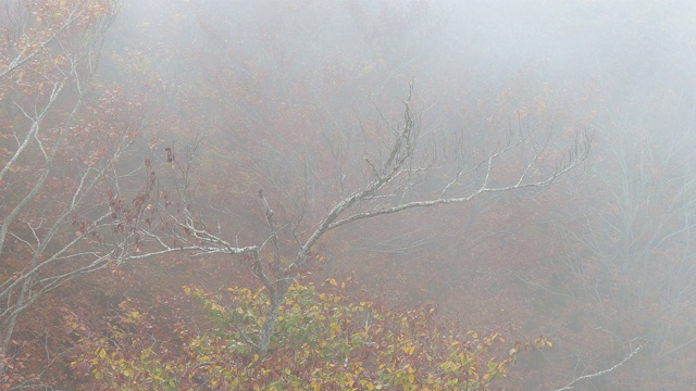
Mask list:
[[[684,387],[666,367],[693,357],[688,348],[696,342],[689,320],[696,310],[696,140],[680,119],[682,108],[663,104],[660,115],[631,109],[596,126],[592,168],[568,186],[573,207],[554,216],[562,249],[549,258],[556,277],[527,279],[569,310],[556,317],[569,340],[606,341],[576,353],[583,371],[610,366],[641,344],[643,353],[624,368],[634,376],[622,389]],[[605,381],[584,379],[596,387]]]

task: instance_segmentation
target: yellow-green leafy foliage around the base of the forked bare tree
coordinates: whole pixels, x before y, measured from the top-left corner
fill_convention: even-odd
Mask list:
[[[545,338],[523,345],[499,332],[457,332],[436,320],[434,306],[353,302],[345,287],[334,278],[294,283],[266,355],[250,344],[269,305],[262,290],[184,287],[202,318],[179,313],[170,330],[124,301],[101,338],[73,323],[82,353],[72,366],[90,389],[103,390],[487,390],[519,353],[551,346]]]

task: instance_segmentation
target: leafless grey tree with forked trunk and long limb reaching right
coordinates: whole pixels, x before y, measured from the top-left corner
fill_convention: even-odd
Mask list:
[[[402,117],[398,126],[391,125],[382,116],[384,127],[374,143],[378,147],[370,150],[372,144],[364,144],[363,163],[358,164],[360,185],[348,184],[346,179],[350,176],[347,173],[350,162],[345,152],[348,146],[344,144],[344,152],[339,152],[341,148],[336,142],[328,142],[336,163],[332,185],[335,198],[321,217],[304,224],[309,214],[309,198],[304,192],[296,200],[295,206],[299,211],[294,214],[295,218],[279,222],[265,193],[259,189],[259,203],[269,231],[268,237],[260,242],[246,244],[225,239],[221,234],[209,229],[191,206],[192,181],[187,162],[191,155],[189,153],[179,162],[176,198],[174,194],[150,192],[152,199],[147,206],[149,215],[139,222],[147,219],[151,224],[134,229],[139,236],[138,245],[121,244],[124,251],[134,248],[138,250],[124,253],[123,260],[181,251],[194,255],[219,253],[239,256],[268,290],[270,298],[262,326],[259,330],[250,331],[247,338],[250,345],[265,353],[288,287],[312,260],[313,249],[327,232],[410,209],[465,203],[487,193],[543,188],[577,167],[589,152],[587,135],[581,135],[570,150],[559,152],[551,148],[548,137],[539,141],[538,135],[524,126],[511,126],[506,139],[488,153],[472,152],[470,156],[464,156],[461,153],[463,144],[452,148],[461,157],[455,161],[459,164],[452,164],[451,175],[439,182],[436,191],[424,192],[419,185],[435,180],[438,169],[433,162],[432,150],[423,146],[426,137],[421,133],[421,117],[414,112],[412,91],[411,86],[408,99],[403,101]],[[471,156],[476,156],[475,161]],[[549,160],[554,162],[550,163]],[[505,166],[510,161],[524,163]],[[505,181],[506,178],[511,179]],[[289,257],[290,261],[284,261],[284,249],[288,248],[294,248],[290,250],[294,255]]]

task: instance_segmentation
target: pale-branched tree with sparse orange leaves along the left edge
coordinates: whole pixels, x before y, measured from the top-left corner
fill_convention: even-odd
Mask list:
[[[117,162],[142,122],[116,122],[117,111],[84,119],[88,104],[107,109],[117,99],[107,93],[96,102],[88,92],[117,8],[5,0],[0,10],[0,374],[17,317],[110,260],[91,243],[113,226],[113,205],[95,200],[104,186],[117,191]]]

